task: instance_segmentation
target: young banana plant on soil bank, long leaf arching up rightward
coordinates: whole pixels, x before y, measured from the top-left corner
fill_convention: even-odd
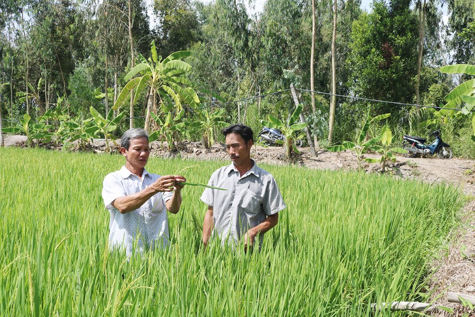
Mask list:
[[[378,142],[380,142],[382,138],[382,136],[379,135],[365,142],[366,133],[370,129],[371,123],[388,118],[390,115],[391,115],[390,113],[385,113],[385,114],[378,115],[371,120],[366,119],[365,122],[363,123],[363,127],[361,128],[360,133],[357,134],[357,138],[355,142],[345,141],[343,142],[343,144],[330,146],[327,148],[327,150],[330,152],[340,152],[344,150],[351,150],[355,152],[356,159],[358,160],[358,169],[361,169],[361,160],[362,160],[363,154],[365,154],[366,151],[368,150],[373,150],[373,147]]]

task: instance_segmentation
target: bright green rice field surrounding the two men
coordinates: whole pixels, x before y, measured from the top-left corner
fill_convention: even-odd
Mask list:
[[[371,303],[421,299],[463,204],[445,185],[264,166],[287,209],[260,253],[203,249],[203,189],[186,187],[170,248],[127,262],[107,250],[100,196],[122,157],[0,148],[0,161],[1,316],[374,316]],[[147,169],[206,184],[222,165]]]

